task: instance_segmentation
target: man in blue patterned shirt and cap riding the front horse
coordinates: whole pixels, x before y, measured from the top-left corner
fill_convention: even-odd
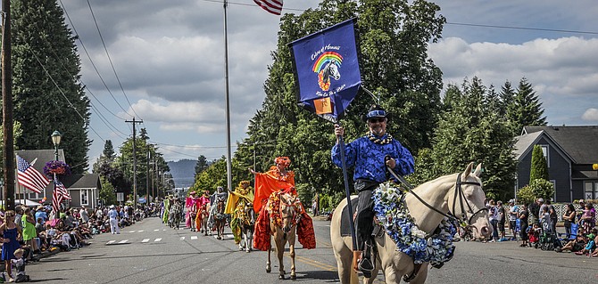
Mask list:
[[[363,117],[370,131],[345,144],[345,166],[354,167],[353,181],[355,191],[358,192],[357,213],[355,216],[355,233],[357,249],[353,252],[353,269],[370,273],[374,269],[371,261],[372,246],[371,233],[374,230],[374,200],[372,191],[380,183],[387,181],[386,166],[396,174],[407,175],[413,173],[414,161],[411,152],[401,142],[386,133],[389,114],[379,105],[372,105]],[[336,137],[343,136],[343,126],[335,125]],[[386,158],[389,157],[389,158]],[[332,147],[332,161],[341,167],[340,148],[338,139]]]

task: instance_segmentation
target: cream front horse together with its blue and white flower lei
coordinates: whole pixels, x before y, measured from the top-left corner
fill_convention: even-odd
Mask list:
[[[380,270],[386,283],[399,283],[402,278],[424,283],[428,264],[439,268],[453,257],[453,236],[459,223],[469,223],[478,239],[490,236],[492,229],[484,214],[486,194],[479,178],[481,164],[474,172],[472,168],[470,163],[461,174],[444,175],[410,192],[400,191],[391,183],[383,183],[373,192],[375,222],[384,233],[376,234],[375,267],[364,283],[373,283]],[[330,239],[341,283],[358,283],[352,267],[351,236],[341,234],[345,207],[343,200],[334,211]]]

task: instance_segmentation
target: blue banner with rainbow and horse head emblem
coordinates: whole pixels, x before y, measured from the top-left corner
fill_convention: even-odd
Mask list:
[[[299,105],[333,123],[361,85],[354,23],[345,20],[289,44]]]

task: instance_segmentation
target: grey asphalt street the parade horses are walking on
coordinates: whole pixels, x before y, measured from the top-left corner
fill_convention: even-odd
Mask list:
[[[329,221],[314,218],[316,249],[297,244],[296,272],[300,283],[337,283],[336,261],[330,248]],[[146,218],[120,234],[104,233],[92,245],[61,252],[29,264],[33,281],[46,283],[282,283],[272,253],[239,251],[229,229],[225,240],[195,231],[173,230],[158,218]],[[590,283],[598,280],[598,259],[502,243],[457,242],[452,261],[428,272],[427,283]],[[378,275],[377,283],[384,279]]]

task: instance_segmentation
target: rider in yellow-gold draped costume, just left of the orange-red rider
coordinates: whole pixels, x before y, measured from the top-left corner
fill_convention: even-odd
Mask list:
[[[239,183],[235,191],[228,191],[227,206],[224,208],[224,214],[231,215],[230,229],[235,237],[235,244],[241,241],[241,223],[240,219],[250,220],[253,223],[253,215],[245,215],[245,205],[253,207],[253,189],[249,186],[249,181]],[[249,219],[246,219],[249,218]]]

